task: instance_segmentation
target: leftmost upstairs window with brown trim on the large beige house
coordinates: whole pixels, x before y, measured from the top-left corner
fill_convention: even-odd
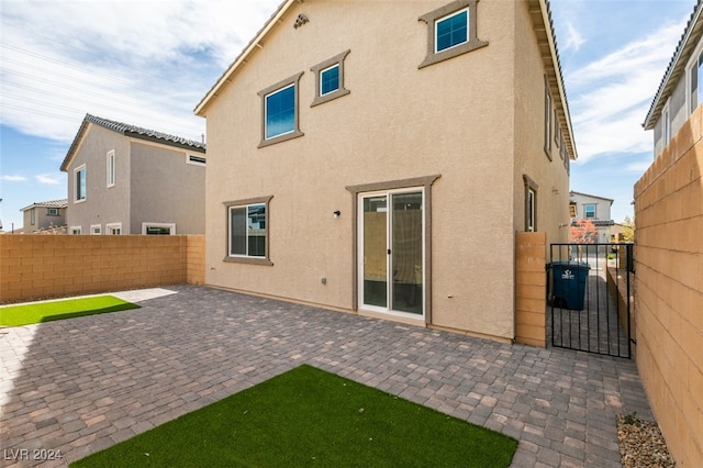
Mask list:
[[[263,116],[259,148],[303,135],[298,112],[298,82],[302,75],[301,71],[258,92]]]

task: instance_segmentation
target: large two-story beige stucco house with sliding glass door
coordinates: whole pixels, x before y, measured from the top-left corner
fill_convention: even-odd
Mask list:
[[[511,341],[515,232],[568,241],[544,0],[287,0],[196,113],[210,285]]]

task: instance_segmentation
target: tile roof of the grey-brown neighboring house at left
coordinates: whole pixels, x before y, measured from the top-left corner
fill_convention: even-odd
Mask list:
[[[62,163],[62,170],[66,170],[66,168],[68,167],[68,161],[71,159],[74,152],[77,149],[78,144],[82,140],[82,136],[85,135],[89,123],[100,125],[104,129],[111,130],[125,136],[158,142],[165,145],[190,149],[198,153],[205,153],[207,145],[201,142],[183,138],[181,136],[170,135],[168,133],[157,132],[155,130],[144,129],[124,122],[103,119],[97,115],[86,114],[80,129],[78,130],[78,133],[76,134],[76,137],[74,138],[74,142],[71,143],[70,148],[68,149],[68,153],[64,158],[64,161]]]

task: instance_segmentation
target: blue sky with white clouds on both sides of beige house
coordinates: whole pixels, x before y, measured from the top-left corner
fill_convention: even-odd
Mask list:
[[[22,225],[20,209],[67,197],[59,166],[86,113],[200,140],[192,109],[278,4],[0,0],[4,230]],[[641,122],[694,4],[551,1],[580,156],[571,190],[614,199],[615,221],[652,160]]]

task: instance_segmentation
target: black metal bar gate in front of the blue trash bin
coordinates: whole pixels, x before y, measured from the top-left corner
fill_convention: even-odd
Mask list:
[[[551,345],[629,358],[633,244],[551,244],[550,250]]]

